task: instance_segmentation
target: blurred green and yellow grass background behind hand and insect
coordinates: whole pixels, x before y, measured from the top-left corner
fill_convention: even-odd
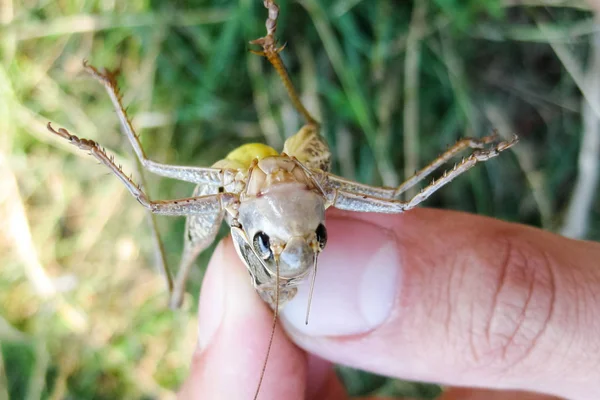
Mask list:
[[[514,151],[426,206],[600,239],[600,40],[587,3],[280,3],[283,58],[323,123],[335,173],[395,185],[459,137],[518,133]],[[280,147],[302,121],[248,52],[265,18],[259,0],[0,0],[0,400],[174,396],[211,251],[186,308],[171,312],[145,210],[45,125],[100,142],[136,171],[104,89],[82,71],[88,59],[121,70],[154,160],[208,166],[243,143]],[[146,181],[155,199],[192,190]],[[157,221],[175,266],[184,220]],[[353,394],[439,392],[340,373]]]

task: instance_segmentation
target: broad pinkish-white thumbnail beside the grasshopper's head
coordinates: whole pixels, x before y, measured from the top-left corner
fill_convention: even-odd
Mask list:
[[[381,227],[358,220],[328,220],[327,231],[308,325],[309,281],[283,309],[284,325],[309,336],[373,330],[388,318],[397,298],[401,266],[396,240]]]

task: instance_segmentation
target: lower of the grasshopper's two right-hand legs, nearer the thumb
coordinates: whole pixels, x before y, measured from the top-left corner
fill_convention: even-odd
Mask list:
[[[498,156],[500,152],[513,146],[517,140],[518,139],[515,137],[510,142],[501,142],[490,149],[476,150],[473,152],[473,154],[456,164],[454,168],[449,171],[445,171],[439,179],[431,182],[431,184],[423,188],[417,195],[408,201],[400,201],[378,196],[379,193],[385,194],[385,190],[392,190],[390,188],[376,188],[354,184],[355,186],[347,186],[349,189],[354,190],[346,191],[343,187],[336,187],[337,183],[332,185],[329,181],[329,178],[326,181],[325,188],[328,192],[327,195],[332,205],[342,210],[401,213],[416,207],[419,203],[426,200],[438,189],[450,183],[454,178],[461,175],[463,172],[473,168],[477,163],[487,161],[490,158]],[[359,190],[356,190],[357,187]],[[367,193],[370,189],[373,189],[372,193],[374,194]]]

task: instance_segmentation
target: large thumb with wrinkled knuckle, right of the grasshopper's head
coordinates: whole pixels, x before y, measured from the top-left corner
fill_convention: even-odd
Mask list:
[[[336,212],[283,311],[301,347],[405,379],[600,398],[600,244],[463,213]]]

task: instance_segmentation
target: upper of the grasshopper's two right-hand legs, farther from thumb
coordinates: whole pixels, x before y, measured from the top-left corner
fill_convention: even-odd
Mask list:
[[[518,138],[515,136],[510,141],[501,141],[493,145],[492,147],[486,150],[486,145],[494,143],[498,140],[498,136],[496,134],[483,137],[481,139],[474,138],[464,138],[456,142],[452,147],[442,153],[438,158],[433,160],[432,163],[417,171],[412,177],[410,177],[407,181],[403,182],[397,188],[391,187],[377,187],[365,185],[362,183],[354,182],[333,174],[329,174],[328,183],[330,187],[336,188],[338,190],[344,192],[351,192],[357,194],[365,194],[372,197],[378,197],[381,199],[395,199],[398,198],[402,193],[425,179],[431,173],[436,171],[440,166],[448,162],[452,157],[456,156],[462,150],[467,148],[475,149],[475,152],[471,155],[475,155],[478,157],[482,157],[484,154],[494,154],[491,157],[495,157],[501,151],[512,147],[515,143],[517,143]],[[488,157],[488,158],[491,158]],[[482,160],[480,160],[482,161]],[[418,195],[417,195],[418,196]]]

